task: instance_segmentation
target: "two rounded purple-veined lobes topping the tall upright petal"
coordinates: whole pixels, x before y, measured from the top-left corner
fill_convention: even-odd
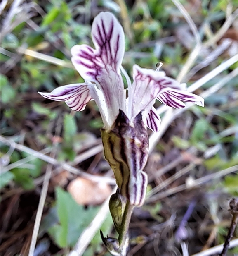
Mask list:
[[[71,48],[71,60],[82,78],[97,81],[97,75],[108,67],[120,73],[125,53],[125,34],[111,12],[100,12],[94,18],[92,41],[95,50],[88,45],[74,45]]]

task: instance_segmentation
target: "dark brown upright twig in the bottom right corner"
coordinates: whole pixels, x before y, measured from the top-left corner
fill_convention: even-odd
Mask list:
[[[230,201],[230,211],[232,214],[232,220],[231,220],[231,225],[228,230],[228,234],[226,236],[226,240],[224,242],[223,250],[219,256],[225,256],[226,252],[229,249],[229,244],[231,242],[231,238],[233,237],[233,233],[235,232],[236,225],[238,222],[238,198],[233,198]]]

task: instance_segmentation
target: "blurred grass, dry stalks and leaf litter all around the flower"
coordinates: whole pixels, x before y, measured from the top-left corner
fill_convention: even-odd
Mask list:
[[[115,182],[97,106],[71,112],[37,93],[83,81],[70,48],[92,45],[92,20],[105,10],[125,30],[130,75],[135,63],[161,61],[205,98],[204,108],[156,103],[162,124],[150,133],[150,183],[128,255],[216,255],[208,249],[224,242],[238,196],[237,8],[237,0],[2,0],[0,255],[109,256],[99,229],[116,235],[102,203]],[[228,255],[238,255],[237,230],[234,239]]]

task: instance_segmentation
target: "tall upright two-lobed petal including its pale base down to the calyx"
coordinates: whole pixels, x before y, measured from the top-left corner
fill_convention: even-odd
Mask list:
[[[95,93],[94,100],[101,115],[106,116],[104,125],[109,129],[119,109],[125,111],[124,84],[120,74],[125,53],[125,34],[112,13],[100,12],[95,17],[92,41],[95,49],[88,45],[74,45],[71,48],[71,60],[82,78],[92,82],[90,93]],[[100,96],[97,95],[98,91],[101,91]],[[107,113],[100,107],[101,101],[104,101]]]

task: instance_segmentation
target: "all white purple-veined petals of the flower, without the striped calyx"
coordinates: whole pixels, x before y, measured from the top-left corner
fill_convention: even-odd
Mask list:
[[[110,130],[119,110],[122,110],[133,125],[141,110],[144,124],[154,132],[159,131],[160,117],[153,108],[156,99],[172,108],[184,108],[184,102],[203,106],[200,96],[185,91],[186,86],[165,72],[133,67],[134,82],[127,76],[128,97],[124,90],[121,71],[125,53],[123,28],[111,12],[100,12],[92,24],[92,41],[88,45],[75,45],[71,49],[72,63],[85,83],[58,87],[51,93],[39,92],[43,97],[65,101],[75,111],[82,111],[90,100],[99,107],[104,128]],[[127,102],[127,104],[126,104]]]

